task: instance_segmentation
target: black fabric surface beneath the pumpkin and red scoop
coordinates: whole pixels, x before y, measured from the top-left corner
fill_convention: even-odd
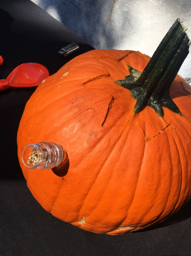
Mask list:
[[[53,74],[75,56],[93,49],[29,0],[0,2],[0,79],[24,62],[38,62]],[[77,52],[60,58],[71,42]],[[46,212],[26,185],[17,158],[17,129],[35,88],[0,93],[0,255],[191,255],[191,202],[168,220],[119,236],[95,234]]]

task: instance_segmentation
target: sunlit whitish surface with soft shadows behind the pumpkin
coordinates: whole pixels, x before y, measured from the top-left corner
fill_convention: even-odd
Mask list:
[[[191,38],[190,0],[31,0],[96,49],[152,56],[176,18]],[[191,77],[191,54],[179,74]]]

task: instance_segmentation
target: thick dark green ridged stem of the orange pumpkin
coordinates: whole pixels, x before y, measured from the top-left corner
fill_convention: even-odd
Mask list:
[[[163,117],[162,107],[181,114],[179,108],[170,97],[170,86],[175,79],[183,61],[189,52],[189,38],[178,18],[160,42],[152,58],[143,72],[129,67],[130,76],[115,83],[129,89],[137,99],[134,106],[135,114],[146,105]]]

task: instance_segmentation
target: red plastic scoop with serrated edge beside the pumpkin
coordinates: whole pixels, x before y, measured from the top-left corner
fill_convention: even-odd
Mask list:
[[[49,76],[48,69],[38,63],[23,63],[17,66],[7,79],[0,80],[0,91],[11,87],[38,86]]]

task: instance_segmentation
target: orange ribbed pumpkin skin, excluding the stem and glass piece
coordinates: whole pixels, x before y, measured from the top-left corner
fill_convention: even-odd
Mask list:
[[[20,121],[19,162],[27,185],[55,217],[95,233],[117,235],[161,222],[191,197],[191,87],[176,76],[170,95],[182,116],[146,106],[115,84],[142,72],[139,51],[93,50],[38,86]],[[31,127],[32,126],[32,127]],[[67,173],[27,169],[23,148],[54,142],[69,157]],[[62,168],[61,168],[62,169]]]

